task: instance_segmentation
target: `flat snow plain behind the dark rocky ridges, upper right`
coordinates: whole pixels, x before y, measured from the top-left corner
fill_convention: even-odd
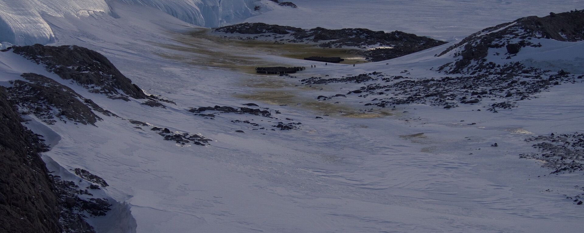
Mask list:
[[[582,9],[581,0],[295,0],[298,9],[279,9],[245,22],[312,29],[367,28],[405,31],[453,41],[531,15]]]

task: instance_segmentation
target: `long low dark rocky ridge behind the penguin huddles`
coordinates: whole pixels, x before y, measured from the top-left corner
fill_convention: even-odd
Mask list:
[[[385,33],[384,31],[372,31],[369,29],[331,30],[322,27],[305,30],[298,27],[265,23],[235,24],[218,27],[213,31],[225,33],[224,36],[227,35],[227,37],[234,37],[229,34],[238,33],[240,35],[235,37],[240,39],[267,39],[279,43],[316,43],[317,46],[324,48],[357,48],[360,50],[356,51],[356,53],[363,55],[370,61],[397,58],[446,44],[444,41],[420,37],[403,31]],[[255,36],[244,38],[241,34]]]

